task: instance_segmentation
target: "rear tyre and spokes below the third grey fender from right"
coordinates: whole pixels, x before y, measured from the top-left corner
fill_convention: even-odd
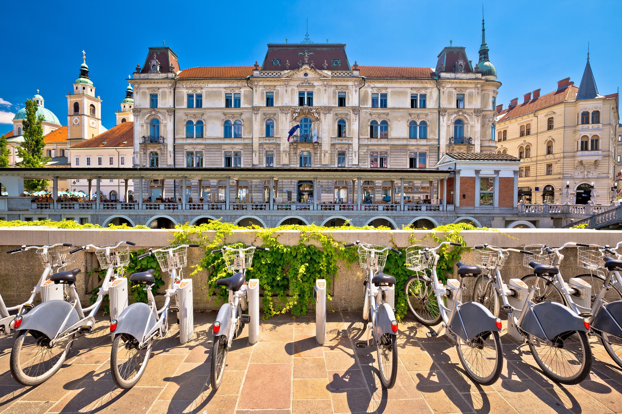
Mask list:
[[[490,336],[492,336],[492,344],[494,344],[494,349],[490,349]],[[464,342],[460,338],[456,341],[456,351],[458,352],[458,358],[460,358],[460,362],[462,362],[462,366],[466,371],[466,376],[468,376],[473,382],[477,382],[481,385],[491,385],[494,384],[501,376],[501,369],[503,368],[503,350],[501,349],[501,338],[499,337],[499,333],[496,331],[486,331],[482,332],[474,339],[471,345]],[[483,355],[480,351],[485,351],[483,343],[488,344],[488,352],[485,352],[487,355]],[[469,348],[473,353],[469,353],[469,356],[465,356],[465,349]],[[479,353],[483,358],[478,358],[479,362],[473,363],[470,358],[471,354]],[[494,364],[490,367],[490,364],[486,364],[486,362],[490,361],[490,358],[494,354]],[[468,361],[467,361],[468,359]],[[483,367],[488,365],[489,372],[475,372],[477,367]]]

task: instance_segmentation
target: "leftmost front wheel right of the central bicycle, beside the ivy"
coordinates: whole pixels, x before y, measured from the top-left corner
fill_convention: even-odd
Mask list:
[[[440,321],[439,301],[434,296],[432,281],[415,274],[408,278],[404,287],[406,303],[412,315],[424,325],[437,325]]]

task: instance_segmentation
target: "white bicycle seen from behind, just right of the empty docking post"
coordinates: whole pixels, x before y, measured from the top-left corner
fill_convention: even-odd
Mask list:
[[[392,388],[397,379],[397,320],[393,313],[395,277],[384,274],[389,250],[401,251],[388,246],[369,245],[356,240],[345,247],[358,245],[358,259],[365,269],[363,320],[367,324],[367,340],[356,341],[357,348],[377,344],[380,381],[386,389]]]

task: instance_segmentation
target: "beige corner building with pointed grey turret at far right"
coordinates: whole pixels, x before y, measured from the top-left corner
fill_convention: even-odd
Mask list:
[[[615,199],[618,94],[601,95],[588,56],[580,86],[570,78],[499,105],[497,152],[518,156],[518,195],[526,203],[609,204]]]

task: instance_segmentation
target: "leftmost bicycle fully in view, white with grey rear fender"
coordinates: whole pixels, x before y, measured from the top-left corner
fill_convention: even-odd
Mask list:
[[[75,287],[76,276],[81,270],[73,269],[57,272],[49,277],[55,284],[67,285],[71,302],[49,300],[35,306],[26,315],[16,317],[14,325],[19,331],[11,349],[10,365],[11,374],[17,382],[22,385],[37,385],[52,377],[65,362],[75,338],[93,331],[95,314],[104,295],[108,294],[112,282],[123,276],[123,267],[129,263],[129,250],[126,245],[134,246],[135,243],[119,241],[111,246],[87,245],[69,252],[76,253],[93,248],[101,268],[107,269],[95,304],[82,308]]]

